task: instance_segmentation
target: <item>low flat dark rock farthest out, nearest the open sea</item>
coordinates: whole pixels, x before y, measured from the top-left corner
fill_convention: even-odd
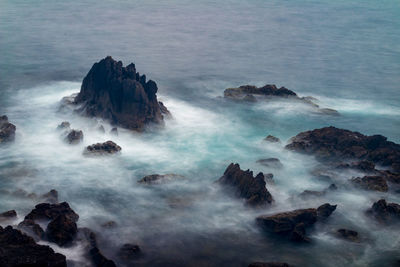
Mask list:
[[[243,99],[248,95],[297,97],[295,92],[285,87],[278,88],[274,84],[267,84],[259,88],[253,85],[243,85],[239,88],[228,88],[224,91],[224,97],[226,98]]]

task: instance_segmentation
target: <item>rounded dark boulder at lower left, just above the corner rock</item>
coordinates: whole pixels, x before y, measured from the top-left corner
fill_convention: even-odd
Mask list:
[[[46,235],[49,241],[65,246],[70,244],[78,232],[78,227],[71,217],[63,214],[58,215],[52,220],[46,229]]]

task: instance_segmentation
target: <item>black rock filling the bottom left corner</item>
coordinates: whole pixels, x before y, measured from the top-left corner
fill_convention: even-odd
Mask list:
[[[0,266],[66,267],[64,255],[42,246],[11,226],[0,227]]]

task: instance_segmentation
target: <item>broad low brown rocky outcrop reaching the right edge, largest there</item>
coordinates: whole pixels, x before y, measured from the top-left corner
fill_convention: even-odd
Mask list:
[[[331,126],[299,133],[286,148],[313,154],[322,160],[368,160],[400,172],[400,145],[382,135],[366,136]]]

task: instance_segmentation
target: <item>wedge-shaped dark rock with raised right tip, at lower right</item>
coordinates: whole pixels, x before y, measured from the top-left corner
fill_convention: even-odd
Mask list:
[[[335,209],[336,205],[326,203],[317,209],[299,209],[275,215],[262,215],[257,217],[256,221],[267,232],[286,236],[296,242],[308,242],[310,240],[306,236],[306,228],[318,220],[326,219]]]

